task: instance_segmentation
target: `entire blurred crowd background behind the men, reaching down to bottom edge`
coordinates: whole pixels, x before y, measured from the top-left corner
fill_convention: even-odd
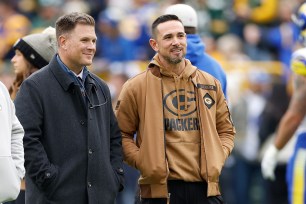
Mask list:
[[[263,180],[260,161],[291,94],[290,57],[299,30],[291,15],[303,0],[0,0],[0,80],[14,79],[13,44],[54,26],[64,13],[86,12],[96,20],[97,52],[90,69],[109,83],[114,103],[122,84],[146,69],[154,52],[150,25],[176,3],[193,6],[206,52],[225,69],[228,101],[237,129],[235,148],[221,177],[228,204],[288,203],[283,150],[277,179]],[[133,203],[138,173],[126,167],[126,190],[118,203]]]

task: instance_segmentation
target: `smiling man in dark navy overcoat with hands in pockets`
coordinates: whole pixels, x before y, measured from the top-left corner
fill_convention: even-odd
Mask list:
[[[15,99],[25,129],[26,203],[113,204],[123,189],[121,134],[107,85],[86,68],[95,21],[64,15],[56,37],[58,54]]]

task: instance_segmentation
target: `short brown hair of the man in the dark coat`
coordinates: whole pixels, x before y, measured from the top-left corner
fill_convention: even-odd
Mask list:
[[[72,12],[59,17],[55,23],[56,38],[72,31],[77,24],[95,26],[95,20],[86,13]]]

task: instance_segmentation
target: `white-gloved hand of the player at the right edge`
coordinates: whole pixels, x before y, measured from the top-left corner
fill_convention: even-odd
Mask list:
[[[261,172],[265,179],[275,179],[274,170],[277,164],[278,152],[279,150],[274,145],[270,145],[264,154],[261,162]]]

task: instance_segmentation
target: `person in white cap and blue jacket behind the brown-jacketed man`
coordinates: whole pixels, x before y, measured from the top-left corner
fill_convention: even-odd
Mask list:
[[[187,34],[186,59],[190,60],[191,64],[200,70],[218,79],[226,97],[227,81],[225,71],[214,58],[205,52],[205,45],[201,37],[197,34],[198,16],[196,11],[187,4],[174,4],[166,8],[165,14],[174,14],[181,19],[185,33]]]

